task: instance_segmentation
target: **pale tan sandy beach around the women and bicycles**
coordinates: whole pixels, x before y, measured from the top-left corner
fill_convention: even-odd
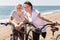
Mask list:
[[[47,14],[44,16],[47,17],[48,19],[51,19],[51,20],[54,20],[54,21],[57,21],[58,23],[60,23],[60,11],[56,11],[56,12],[53,12],[51,14]],[[55,32],[54,37],[56,37],[58,34],[60,34],[60,26],[57,26],[57,27],[59,28],[59,31]],[[46,35],[45,40],[52,40],[51,39],[52,32],[50,29],[51,29],[50,27],[47,28],[47,35]],[[11,26],[10,25],[8,25],[8,26],[1,25],[0,26],[0,40],[9,40],[10,34],[11,34]]]

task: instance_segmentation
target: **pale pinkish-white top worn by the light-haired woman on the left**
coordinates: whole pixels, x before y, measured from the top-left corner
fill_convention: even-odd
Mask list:
[[[15,23],[20,23],[20,22],[23,22],[23,21],[24,21],[25,13],[24,13],[24,11],[23,11],[22,15],[21,15],[21,16],[18,16],[17,12],[14,10],[14,11],[11,13],[10,16],[14,18],[13,21],[14,21]]]

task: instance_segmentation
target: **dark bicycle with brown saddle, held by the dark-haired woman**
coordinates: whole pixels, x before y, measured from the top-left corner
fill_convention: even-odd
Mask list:
[[[53,39],[52,39],[52,40],[60,40],[60,34],[58,34],[57,37],[54,39],[54,33],[55,33],[55,31],[58,31],[58,30],[59,30],[57,27],[54,27],[54,26],[60,25],[60,24],[58,24],[58,23],[56,23],[56,24],[55,24],[55,23],[45,24],[41,29],[40,29],[40,28],[37,28],[35,25],[33,25],[33,24],[31,24],[31,23],[26,23],[26,24],[29,24],[29,25],[35,27],[35,28],[36,28],[36,31],[38,31],[40,34],[41,34],[41,30],[42,30],[44,27],[50,25],[51,31],[52,31],[52,35],[53,35]],[[29,33],[30,33],[31,31],[32,31],[32,29],[30,29],[30,30],[28,31],[28,35],[26,35],[26,40],[29,39]],[[33,40],[33,39],[30,38],[30,40]]]

